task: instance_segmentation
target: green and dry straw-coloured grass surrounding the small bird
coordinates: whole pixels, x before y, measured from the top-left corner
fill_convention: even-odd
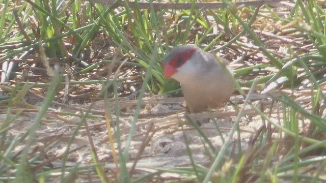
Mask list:
[[[267,5],[235,7],[224,1],[226,8],[198,10],[192,2],[191,9],[168,10],[149,4],[150,8],[144,9],[138,4],[131,8],[128,2],[122,1],[108,6],[82,1],[1,1],[0,63],[12,62],[19,67],[15,65],[18,69],[13,69],[10,82],[0,84],[7,96],[0,98],[0,181],[70,182],[80,177],[93,180],[92,175],[101,182],[326,181],[323,5],[317,1],[296,1],[290,3],[293,6],[289,10]],[[113,47],[114,56],[104,56],[104,59],[85,56],[89,50],[96,52],[92,50],[92,41],[98,37],[109,40],[105,46]],[[139,161],[130,157],[130,146],[137,134],[144,97],[180,93],[178,83],[165,79],[161,69],[169,50],[180,44],[196,44],[234,61],[231,63],[234,75],[230,77],[237,80],[236,94],[244,98],[244,103],[234,107],[238,110],[235,122],[220,150],[193,124],[207,147],[207,156],[211,157],[206,167],[194,161],[189,142],[185,140],[191,160],[188,166],[130,173],[128,163],[133,161],[135,165]],[[285,51],[281,52],[281,48]],[[51,73],[52,67],[55,70]],[[39,75],[37,68],[41,70]],[[124,68],[132,68],[138,75],[123,77]],[[28,77],[29,72],[33,77]],[[130,128],[124,139],[120,123],[125,118],[120,102],[125,98],[119,94],[119,87],[130,80],[137,83],[137,79],[141,80],[135,92],[137,104],[130,114]],[[68,109],[68,105],[61,104],[63,93],[69,93],[69,88],[86,90],[90,84],[102,86],[96,95],[88,98],[104,99],[103,113],[92,109],[95,104],[87,110],[51,109],[58,106]],[[250,92],[246,92],[246,87]],[[268,106],[251,100],[254,93],[268,94]],[[39,96],[41,106],[25,102],[30,96]],[[262,127],[253,134],[248,147],[242,149],[239,124],[248,106],[260,116]],[[29,110],[36,112],[36,116],[28,118],[31,123],[22,134],[14,133],[21,123],[19,120]],[[78,120],[72,121],[73,116]],[[41,147],[37,137],[47,117],[74,126],[64,153],[52,159],[47,159],[46,154],[59,140],[46,141]],[[89,131],[89,120],[94,118],[105,119],[108,148],[114,152],[107,164],[114,164],[114,168],[107,168],[99,161]],[[191,116],[184,118],[193,120]],[[73,143],[82,128],[87,131],[93,162],[70,164],[68,156],[79,148]],[[149,129],[148,138],[157,130]],[[234,136],[238,137],[237,158],[230,156]],[[144,141],[142,147],[149,141]],[[17,150],[19,147],[21,150]],[[141,157],[140,153],[138,158]],[[58,159],[60,166],[53,166]]]

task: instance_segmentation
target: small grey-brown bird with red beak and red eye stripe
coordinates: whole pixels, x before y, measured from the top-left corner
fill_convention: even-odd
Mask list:
[[[232,80],[214,55],[197,46],[173,48],[165,58],[163,69],[165,77],[181,84],[186,107],[191,112],[223,106],[234,90]]]

